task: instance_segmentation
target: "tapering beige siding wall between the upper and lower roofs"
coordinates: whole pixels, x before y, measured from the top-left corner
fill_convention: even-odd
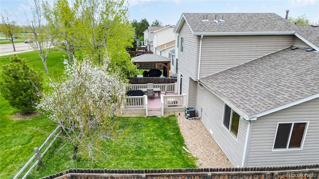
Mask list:
[[[293,35],[203,36],[200,78],[292,46],[293,40]]]

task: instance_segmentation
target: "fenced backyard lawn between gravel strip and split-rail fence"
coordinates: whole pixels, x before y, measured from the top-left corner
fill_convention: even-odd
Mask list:
[[[121,128],[129,128],[129,132],[123,139],[105,143],[101,150],[107,155],[99,163],[91,165],[79,156],[73,161],[73,147],[61,143],[43,158],[32,177],[41,178],[72,168],[196,168],[195,159],[182,149],[184,140],[175,115],[119,117],[119,121]]]

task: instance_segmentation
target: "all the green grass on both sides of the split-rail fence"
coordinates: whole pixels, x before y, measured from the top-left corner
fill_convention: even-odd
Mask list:
[[[47,82],[53,73],[64,71],[63,52],[55,50],[47,59],[50,74],[43,74]],[[1,56],[1,65],[9,62],[9,56]],[[43,70],[43,64],[37,52],[17,54],[26,58],[30,67]],[[1,66],[0,66],[1,68]],[[33,155],[33,148],[39,147],[53,131],[55,124],[43,116],[27,119],[15,117],[16,109],[0,96],[0,179],[12,178]],[[72,160],[73,147],[69,143],[57,140],[42,163],[29,178],[40,178],[70,168],[109,168],[109,169],[163,169],[194,168],[194,158],[189,157],[182,146],[176,117],[120,117],[121,127],[130,128],[128,135],[116,143],[109,141],[103,151],[107,154],[98,163],[81,159]],[[36,130],[36,129],[40,130]]]

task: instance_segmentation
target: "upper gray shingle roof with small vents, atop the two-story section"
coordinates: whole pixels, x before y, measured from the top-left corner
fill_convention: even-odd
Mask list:
[[[202,22],[203,16],[209,21]],[[214,19],[223,17],[218,25]],[[196,32],[295,31],[296,25],[276,13],[183,13],[191,30]]]

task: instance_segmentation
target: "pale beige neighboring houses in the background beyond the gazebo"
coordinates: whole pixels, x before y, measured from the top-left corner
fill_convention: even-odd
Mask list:
[[[168,51],[175,48],[175,34],[173,30],[173,25],[148,27],[148,29],[144,31],[144,41],[148,50],[153,51],[154,54],[168,58]]]

